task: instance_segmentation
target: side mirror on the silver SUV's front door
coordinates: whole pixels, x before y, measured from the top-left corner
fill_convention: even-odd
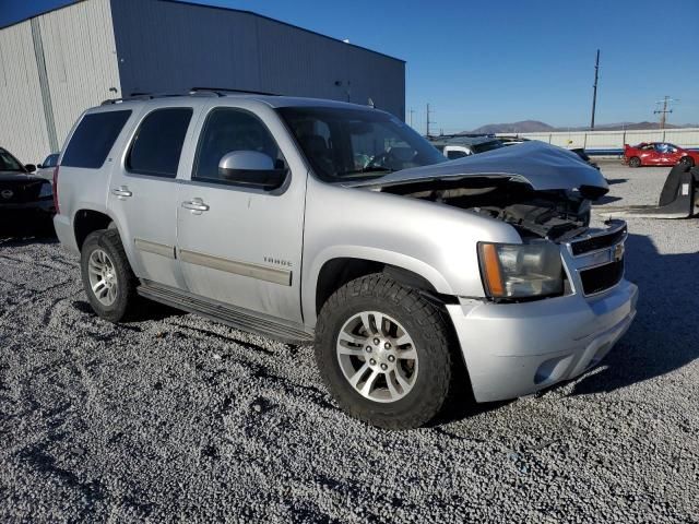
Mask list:
[[[218,176],[230,183],[271,190],[284,183],[286,168],[275,167],[264,153],[233,151],[218,162]]]

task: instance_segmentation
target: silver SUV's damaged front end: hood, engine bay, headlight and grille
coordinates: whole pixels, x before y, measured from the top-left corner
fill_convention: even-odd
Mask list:
[[[600,171],[547,144],[512,150],[398,171],[363,186],[511,225],[521,243],[478,242],[481,276],[491,300],[526,301],[577,291],[588,296],[616,285],[623,277],[619,252],[626,225],[590,229],[591,203],[608,190]],[[588,245],[584,252],[573,252],[572,246],[580,251]]]

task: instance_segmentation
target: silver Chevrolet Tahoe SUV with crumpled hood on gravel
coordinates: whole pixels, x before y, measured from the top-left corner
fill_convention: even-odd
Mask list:
[[[313,342],[380,427],[576,377],[636,313],[626,225],[589,227],[604,179],[546,144],[448,162],[371,107],[198,92],[90,109],[62,151],[55,226],[97,314],[144,297]]]

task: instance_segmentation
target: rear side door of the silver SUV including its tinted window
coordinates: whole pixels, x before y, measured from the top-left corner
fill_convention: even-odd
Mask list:
[[[183,288],[175,259],[177,175],[194,108],[146,107],[111,175],[108,210],[130,243],[137,276]]]

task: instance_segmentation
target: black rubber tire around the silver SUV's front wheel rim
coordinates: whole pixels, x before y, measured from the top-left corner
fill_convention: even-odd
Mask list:
[[[419,371],[412,390],[381,403],[363,396],[345,378],[336,354],[340,331],[353,315],[379,311],[413,338]],[[331,394],[348,415],[387,429],[423,426],[442,409],[462,369],[450,348],[451,331],[440,308],[417,289],[376,273],[345,284],[323,305],[316,326],[316,362]]]

